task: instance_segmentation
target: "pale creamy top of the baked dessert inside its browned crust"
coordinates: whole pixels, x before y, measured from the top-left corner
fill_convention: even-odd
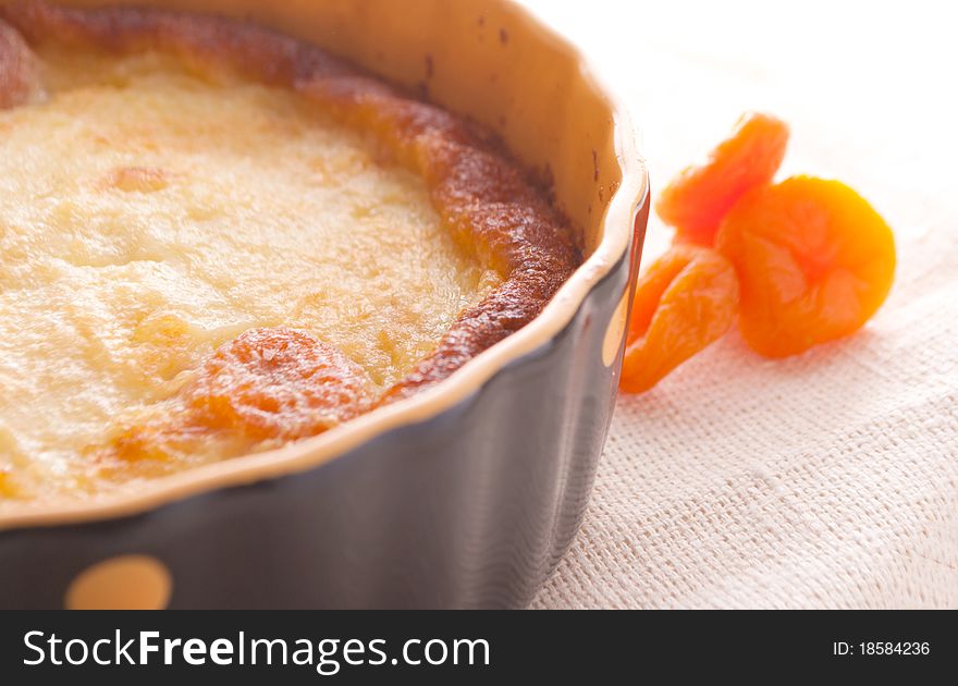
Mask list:
[[[85,451],[243,331],[309,331],[385,389],[502,281],[294,91],[38,51],[46,101],[0,111],[0,500],[101,490]]]

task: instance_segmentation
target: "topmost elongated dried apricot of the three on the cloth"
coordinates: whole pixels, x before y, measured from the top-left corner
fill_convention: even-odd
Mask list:
[[[680,172],[662,191],[655,204],[659,217],[676,228],[679,241],[712,245],[736,201],[772,182],[787,145],[785,122],[769,114],[745,114],[703,164]]]

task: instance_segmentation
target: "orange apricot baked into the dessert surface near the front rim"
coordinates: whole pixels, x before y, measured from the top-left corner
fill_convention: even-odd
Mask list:
[[[305,331],[250,329],[213,353],[185,397],[211,429],[296,440],[365,412],[373,387],[361,367]]]

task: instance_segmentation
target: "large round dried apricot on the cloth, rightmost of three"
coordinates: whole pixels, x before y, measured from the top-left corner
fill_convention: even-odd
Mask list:
[[[895,277],[888,224],[837,181],[796,176],[756,188],[725,218],[716,248],[738,273],[742,335],[766,357],[857,331]]]

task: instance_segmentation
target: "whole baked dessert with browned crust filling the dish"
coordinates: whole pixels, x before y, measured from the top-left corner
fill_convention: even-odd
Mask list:
[[[494,135],[315,46],[0,7],[0,507],[407,397],[580,259]]]

